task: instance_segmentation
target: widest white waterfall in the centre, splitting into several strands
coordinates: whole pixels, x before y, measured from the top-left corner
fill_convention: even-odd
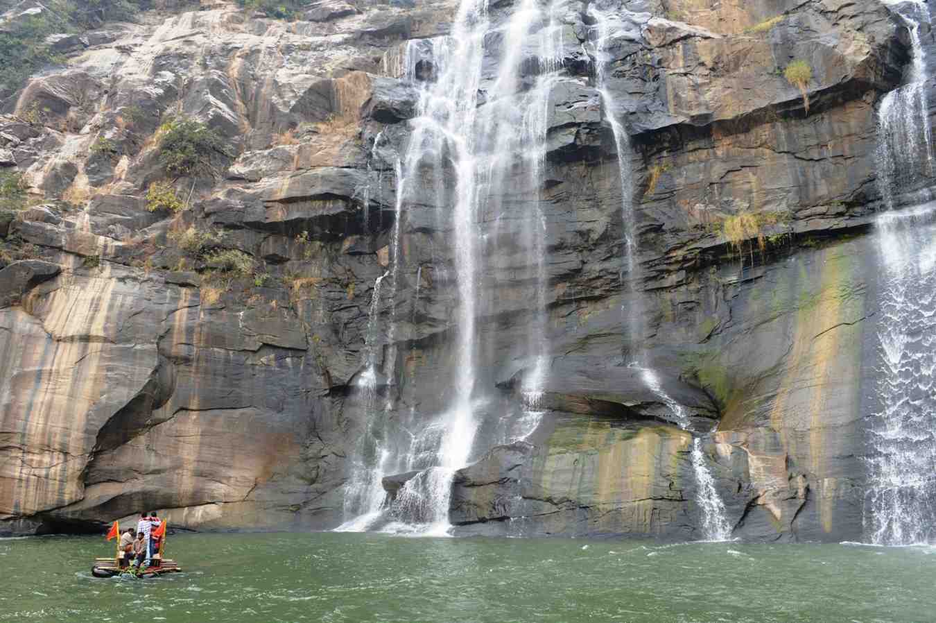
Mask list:
[[[453,395],[444,413],[431,423],[420,424],[419,430],[405,431],[405,443],[398,443],[394,450],[389,465],[418,473],[397,492],[388,509],[395,522],[384,529],[445,534],[449,527],[452,478],[457,469],[468,464],[481,425],[475,404],[475,385],[480,380],[476,319],[482,280],[492,272],[486,264],[490,249],[483,248],[483,228],[499,227],[502,220],[517,227],[508,236],[513,241],[511,252],[528,264],[524,270],[530,274],[527,282],[533,284],[535,297],[525,353],[534,364],[521,387],[527,410],[511,430],[516,438],[522,438],[529,431],[519,428],[538,423],[531,416],[537,415],[534,409],[548,367],[545,224],[538,194],[546,161],[548,98],[562,66],[561,31],[555,15],[563,1],[543,7],[537,0],[522,0],[503,24],[491,26],[486,2],[463,0],[449,37],[411,41],[403,67],[397,67],[396,60],[387,63],[405,79],[421,85],[417,118],[411,124],[407,152],[397,174],[395,230],[402,203],[411,193],[419,200],[415,193],[420,190],[408,181],[419,180],[424,187],[434,189],[435,205],[440,209],[439,229],[449,231],[451,236],[458,304],[453,314]],[[497,54],[499,58],[498,73],[488,83],[483,71],[486,54]],[[536,68],[531,70],[532,66]],[[523,80],[526,76],[535,79],[533,85]],[[482,84],[487,96],[479,101]],[[520,132],[516,131],[518,127]],[[503,200],[515,190],[512,185],[517,178],[511,175],[518,168],[523,171],[521,179],[532,188],[524,194],[537,198],[525,200],[522,213],[509,210],[508,201]],[[397,236],[395,231],[394,240]],[[394,265],[389,281],[395,289],[400,264],[397,246],[391,255]],[[393,332],[391,325],[391,342]],[[392,353],[388,354],[390,358]],[[414,418],[411,413],[411,422]],[[358,469],[369,466],[369,473],[376,473],[373,463],[365,464]],[[353,479],[352,483],[358,481],[379,485],[374,477]],[[353,493],[349,488],[347,495]],[[383,489],[358,497],[371,499],[370,495],[383,499]],[[373,527],[372,522],[358,519],[350,524]]]

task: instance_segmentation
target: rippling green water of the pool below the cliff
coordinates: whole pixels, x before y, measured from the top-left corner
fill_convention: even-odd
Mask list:
[[[184,573],[91,576],[103,538],[0,541],[0,621],[934,621],[936,549],[169,536]]]

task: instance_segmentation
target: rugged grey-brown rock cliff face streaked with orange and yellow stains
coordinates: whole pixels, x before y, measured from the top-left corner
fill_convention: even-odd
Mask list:
[[[585,46],[594,7],[622,24],[599,61],[613,110]],[[456,8],[150,11],[64,43],[66,62],[7,101],[0,160],[32,200],[0,230],[0,532],[95,529],[143,507],[197,529],[336,527],[373,418],[358,389],[368,352],[391,423],[445,408],[456,232],[431,188],[397,209],[394,169],[414,79],[432,79],[431,59],[406,75],[407,41],[446,35]],[[910,62],[906,24],[875,0],[569,2],[561,36],[544,183],[518,178],[503,198],[538,195],[545,215],[548,410],[522,442],[478,438],[451,521],[699,538],[693,435],[622,364],[641,349],[695,430],[714,430],[703,451],[735,536],[858,540],[876,107]],[[805,93],[783,76],[795,60],[812,69]],[[206,172],[169,176],[178,214],[146,199],[167,177],[170,114],[223,142]],[[609,116],[630,137],[629,184]],[[636,287],[621,278],[622,193]],[[479,228],[504,257],[480,284],[480,382],[485,408],[506,412],[534,310],[524,260]],[[388,298],[375,283],[394,231]],[[248,271],[212,264],[231,249]]]

